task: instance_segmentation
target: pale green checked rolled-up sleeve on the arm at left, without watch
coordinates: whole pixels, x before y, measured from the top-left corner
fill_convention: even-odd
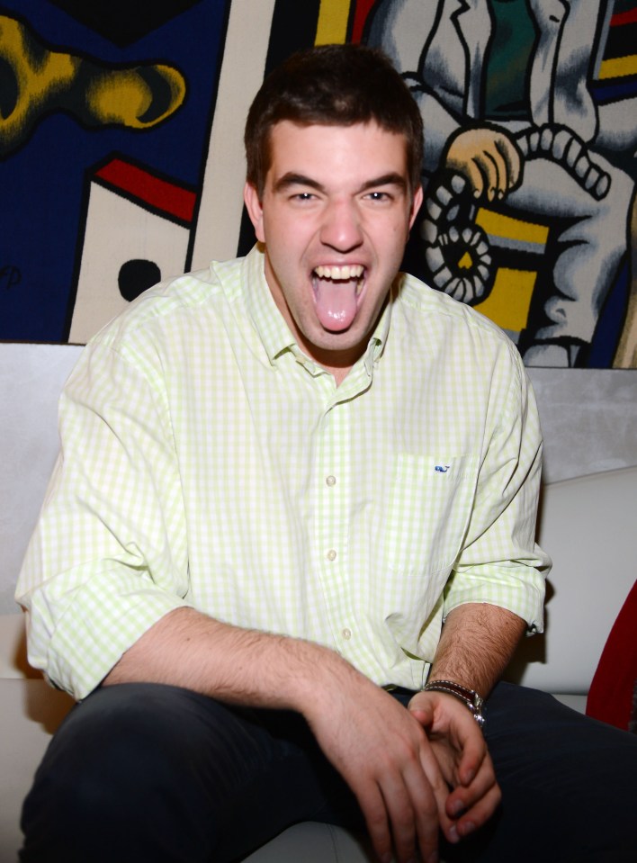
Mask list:
[[[86,348],[60,399],[62,447],[18,580],[29,661],[77,699],[187,604],[179,469],[152,365],[108,340]]]

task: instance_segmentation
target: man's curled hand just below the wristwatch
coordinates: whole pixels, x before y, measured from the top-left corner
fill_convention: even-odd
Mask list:
[[[452,788],[445,802],[452,823],[444,834],[457,842],[486,823],[501,799],[487,744],[471,712],[452,695],[418,692],[408,711],[426,729],[444,781]]]

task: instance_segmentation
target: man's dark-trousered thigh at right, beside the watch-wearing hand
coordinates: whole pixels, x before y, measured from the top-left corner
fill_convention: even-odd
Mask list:
[[[637,736],[507,683],[494,689],[485,715],[502,805],[450,860],[633,861]]]

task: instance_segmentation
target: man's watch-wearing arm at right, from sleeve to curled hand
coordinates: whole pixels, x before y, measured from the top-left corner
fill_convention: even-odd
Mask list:
[[[519,356],[492,386],[487,439],[467,542],[445,589],[445,620],[429,680],[453,680],[483,698],[506,669],[525,628],[541,628],[543,570],[534,544],[541,438]],[[507,363],[508,364],[508,363]],[[494,379],[495,380],[495,379]],[[489,817],[500,792],[480,727],[462,702],[422,692],[409,709],[424,724],[444,778],[447,811],[466,835]]]

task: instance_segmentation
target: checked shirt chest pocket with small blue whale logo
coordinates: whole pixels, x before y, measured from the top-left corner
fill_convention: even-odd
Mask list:
[[[390,570],[424,575],[462,548],[478,474],[476,455],[398,455],[385,544]]]

